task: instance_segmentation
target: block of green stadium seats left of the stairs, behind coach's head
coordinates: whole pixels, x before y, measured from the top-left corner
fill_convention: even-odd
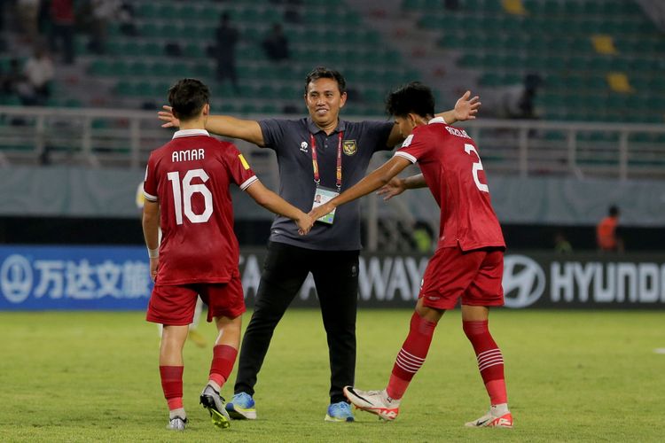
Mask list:
[[[237,114],[301,113],[302,79],[318,65],[340,69],[348,80],[347,115],[378,115],[387,89],[419,77],[402,55],[366,26],[361,14],[345,4],[317,0],[299,5],[299,22],[286,21],[288,4],[269,0],[196,4],[137,0],[138,35],[122,35],[112,27],[108,54],[87,54],[88,73],[113,88],[125,106],[149,108],[163,102],[177,78],[196,76],[211,85],[213,110]],[[240,91],[215,80],[215,27],[230,12],[239,28],[237,66]],[[291,58],[270,62],[261,40],[273,23],[282,23]],[[86,51],[86,39],[78,39]]]

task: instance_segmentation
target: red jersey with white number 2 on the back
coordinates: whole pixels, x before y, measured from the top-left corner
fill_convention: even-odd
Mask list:
[[[478,148],[464,130],[435,118],[415,128],[395,155],[418,162],[441,208],[438,247],[505,247]]]

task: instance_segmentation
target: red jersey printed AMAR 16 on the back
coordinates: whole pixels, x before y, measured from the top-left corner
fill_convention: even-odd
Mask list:
[[[239,275],[231,183],[258,180],[234,144],[202,129],[177,131],[153,151],[144,195],[160,203],[158,284],[226,283]]]

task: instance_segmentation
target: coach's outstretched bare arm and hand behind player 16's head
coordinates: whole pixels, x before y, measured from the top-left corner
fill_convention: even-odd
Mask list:
[[[165,123],[162,128],[178,128],[180,120],[173,115],[171,106],[161,106],[163,111],[157,113],[158,118]],[[206,130],[218,136],[239,138],[246,142],[263,147],[263,132],[256,120],[243,120],[231,115],[210,115],[207,117]]]

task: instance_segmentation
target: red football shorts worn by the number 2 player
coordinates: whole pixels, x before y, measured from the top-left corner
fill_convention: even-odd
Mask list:
[[[463,305],[503,306],[503,274],[501,249],[440,248],[427,264],[419,299],[434,309],[452,309],[460,298]]]

